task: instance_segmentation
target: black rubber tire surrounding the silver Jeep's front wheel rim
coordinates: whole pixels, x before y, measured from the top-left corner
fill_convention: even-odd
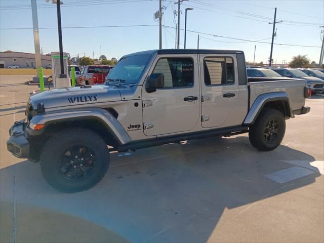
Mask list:
[[[66,156],[65,151],[71,146],[84,146],[94,153],[90,155],[94,156],[91,157],[92,171],[85,178],[67,179],[62,172],[62,156]],[[84,128],[73,128],[54,134],[44,145],[40,160],[45,180],[59,191],[72,193],[90,189],[99,183],[108,170],[110,156],[105,141],[98,134]]]

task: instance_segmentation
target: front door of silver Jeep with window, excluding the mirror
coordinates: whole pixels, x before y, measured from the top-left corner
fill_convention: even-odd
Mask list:
[[[143,85],[146,136],[190,131],[199,121],[200,94],[197,54],[158,56],[149,72],[164,75],[164,88],[147,92]],[[147,80],[146,80],[147,82]]]

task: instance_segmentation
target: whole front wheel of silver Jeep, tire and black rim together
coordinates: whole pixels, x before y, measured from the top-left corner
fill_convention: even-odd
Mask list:
[[[66,129],[51,137],[41,153],[45,180],[63,192],[77,192],[95,186],[109,167],[109,150],[96,133]]]

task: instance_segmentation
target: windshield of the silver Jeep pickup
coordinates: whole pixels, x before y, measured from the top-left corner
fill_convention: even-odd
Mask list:
[[[106,80],[125,80],[128,84],[136,84],[150,57],[150,54],[143,54],[120,59],[110,70]]]

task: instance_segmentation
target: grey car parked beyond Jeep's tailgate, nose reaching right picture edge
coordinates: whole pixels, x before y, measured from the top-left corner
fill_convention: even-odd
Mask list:
[[[318,77],[311,77],[305,72],[296,68],[274,68],[273,71],[279,73],[284,77],[304,78],[307,81],[307,86],[311,89],[312,93],[322,93],[324,91],[324,81]]]

